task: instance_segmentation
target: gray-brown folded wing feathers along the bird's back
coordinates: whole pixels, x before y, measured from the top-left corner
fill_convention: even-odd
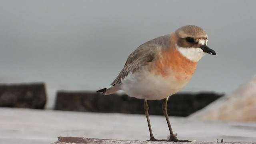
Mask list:
[[[158,57],[161,48],[168,47],[170,35],[160,36],[140,45],[130,56],[127,58],[124,68],[121,70],[116,79],[111,83],[116,86],[121,83],[130,72],[134,73],[143,66],[148,65]]]

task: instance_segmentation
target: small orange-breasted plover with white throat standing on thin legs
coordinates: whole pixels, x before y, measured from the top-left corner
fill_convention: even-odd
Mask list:
[[[169,96],[179,92],[192,78],[198,61],[205,55],[216,55],[207,46],[206,32],[194,25],[182,26],[171,34],[154,38],[141,44],[127,58],[124,68],[116,79],[101,90],[103,95],[123,90],[128,96],[144,99],[144,112],[148,122],[150,140],[179,140],[173,133],[167,114]],[[162,111],[170,131],[170,138],[158,140],[154,138],[148,115],[148,100],[162,100]]]

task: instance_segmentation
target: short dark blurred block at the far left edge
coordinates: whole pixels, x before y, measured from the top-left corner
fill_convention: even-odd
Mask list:
[[[0,107],[44,109],[44,83],[0,84]]]

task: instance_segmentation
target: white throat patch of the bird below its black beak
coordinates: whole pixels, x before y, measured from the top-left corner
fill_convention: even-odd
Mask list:
[[[198,62],[206,53],[201,48],[183,48],[175,45],[177,50],[188,60]]]

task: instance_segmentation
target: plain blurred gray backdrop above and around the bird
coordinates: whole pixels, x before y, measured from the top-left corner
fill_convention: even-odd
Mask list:
[[[1,0],[0,82],[96,90],[140,44],[202,27],[206,55],[183,91],[229,93],[256,73],[256,1]]]

